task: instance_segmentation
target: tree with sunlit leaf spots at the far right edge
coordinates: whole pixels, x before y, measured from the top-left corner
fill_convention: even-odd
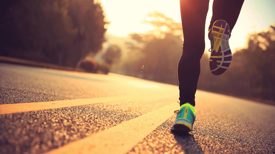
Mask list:
[[[260,89],[262,99],[275,100],[275,25],[250,35],[243,49],[252,94]]]

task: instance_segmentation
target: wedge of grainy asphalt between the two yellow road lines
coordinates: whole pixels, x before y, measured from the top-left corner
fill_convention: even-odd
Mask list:
[[[43,153],[156,110],[171,103],[171,99],[117,101],[0,115],[0,153]]]

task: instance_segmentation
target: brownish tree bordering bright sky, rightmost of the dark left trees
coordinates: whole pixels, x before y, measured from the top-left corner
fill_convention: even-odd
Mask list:
[[[70,47],[72,59],[67,65],[76,66],[89,52],[97,53],[105,41],[105,16],[100,3],[93,0],[70,0],[69,15],[78,29],[74,43]],[[76,58],[75,58],[76,57]]]

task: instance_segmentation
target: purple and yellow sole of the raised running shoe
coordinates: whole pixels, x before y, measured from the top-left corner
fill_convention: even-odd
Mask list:
[[[224,20],[215,21],[212,34],[214,47],[209,60],[210,70],[214,75],[221,75],[227,70],[232,59],[229,47],[229,25]]]

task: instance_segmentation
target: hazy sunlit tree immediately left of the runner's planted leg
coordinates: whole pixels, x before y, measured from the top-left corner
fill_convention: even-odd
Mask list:
[[[155,29],[146,34],[131,34],[131,38],[142,47],[126,43],[130,52],[124,65],[125,72],[131,76],[178,84],[177,64],[183,43],[181,24],[160,12],[149,13],[143,23],[150,23]]]

